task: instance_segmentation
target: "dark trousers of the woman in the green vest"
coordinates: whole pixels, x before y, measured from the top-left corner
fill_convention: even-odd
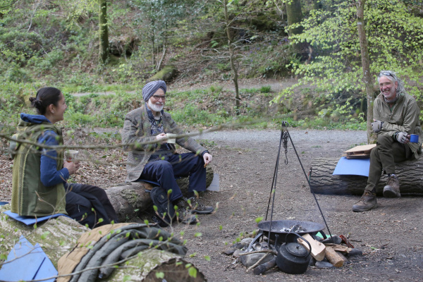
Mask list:
[[[68,216],[90,228],[118,223],[118,216],[106,192],[94,185],[66,183],[66,212]],[[92,210],[94,209],[94,211]],[[102,222],[99,222],[102,219]]]

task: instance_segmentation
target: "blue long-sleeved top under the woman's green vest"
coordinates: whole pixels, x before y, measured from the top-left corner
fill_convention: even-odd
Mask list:
[[[29,123],[42,123],[50,121],[42,115],[20,114],[23,121]],[[59,145],[59,135],[53,130],[46,130],[39,138],[38,143],[44,145]],[[59,183],[66,183],[69,178],[68,168],[57,170],[57,152],[54,149],[42,148],[41,164],[39,166],[41,182],[44,186],[54,186]]]

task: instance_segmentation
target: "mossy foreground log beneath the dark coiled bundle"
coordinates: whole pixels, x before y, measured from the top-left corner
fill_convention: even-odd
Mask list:
[[[18,242],[20,235],[24,235],[32,245],[39,243],[57,269],[59,258],[77,245],[77,240],[82,233],[90,231],[89,228],[66,216],[44,221],[37,226],[26,226],[3,214],[8,209],[10,209],[8,204],[0,207],[0,255],[2,256],[7,256]],[[0,267],[2,263],[3,261],[0,260]],[[104,281],[121,282],[128,278],[131,278],[130,281],[162,281],[162,278],[157,278],[158,276],[164,276],[168,282],[207,281],[200,270],[187,264],[188,262],[185,262],[182,257],[171,252],[148,250],[140,252],[135,258],[125,262],[125,266],[117,267],[114,273]],[[195,277],[192,274],[196,274]]]

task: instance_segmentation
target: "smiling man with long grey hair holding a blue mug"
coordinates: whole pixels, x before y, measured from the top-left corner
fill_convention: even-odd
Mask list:
[[[416,100],[404,90],[403,82],[393,71],[381,71],[378,76],[381,93],[374,99],[372,129],[377,145],[370,152],[367,186],[353,212],[365,212],[376,207],[376,185],[381,173],[388,175],[384,197],[401,197],[400,182],[395,174],[395,163],[418,159],[422,152],[420,109]],[[419,135],[417,143],[410,135]]]

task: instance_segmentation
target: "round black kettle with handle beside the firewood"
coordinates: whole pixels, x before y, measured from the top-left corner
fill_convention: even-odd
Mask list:
[[[286,235],[286,238],[288,238],[288,235],[294,234],[304,240],[307,245],[309,245],[309,250],[305,248],[300,243],[283,243],[283,245],[278,245],[278,235],[276,235],[276,251],[278,252],[278,255],[276,256],[276,264],[278,265],[278,268],[281,269],[281,271],[287,273],[287,274],[302,274],[305,273],[307,270],[307,267],[309,265],[309,261],[311,259],[311,252],[312,252],[312,246],[310,243],[305,240],[305,238],[302,238],[302,236],[298,235],[298,233],[290,232]],[[288,241],[286,239],[286,241]]]

